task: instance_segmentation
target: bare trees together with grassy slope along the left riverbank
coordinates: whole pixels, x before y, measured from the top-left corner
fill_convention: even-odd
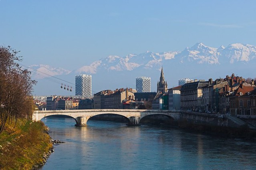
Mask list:
[[[0,169],[34,169],[46,160],[52,144],[42,122],[32,122],[34,104],[30,71],[10,46],[0,46]]]

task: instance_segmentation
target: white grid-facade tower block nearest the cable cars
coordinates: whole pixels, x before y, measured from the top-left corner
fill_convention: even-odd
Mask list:
[[[92,95],[92,76],[91,75],[76,75],[76,96],[91,96]]]

